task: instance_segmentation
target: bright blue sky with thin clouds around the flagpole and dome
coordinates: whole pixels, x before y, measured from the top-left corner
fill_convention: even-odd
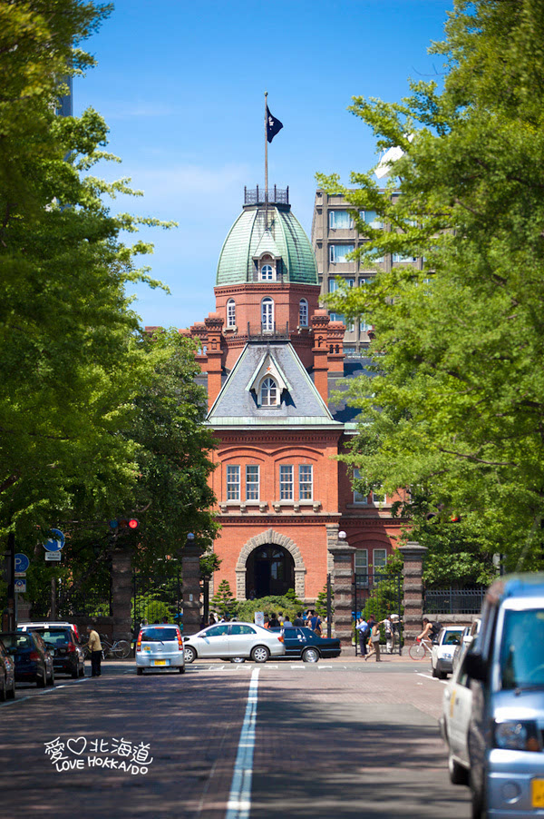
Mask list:
[[[106,179],[130,176],[139,199],[112,211],[174,220],[143,232],[151,275],[171,295],[141,286],[143,324],[189,327],[215,309],[219,252],[241,212],[244,185],[264,184],[264,93],[283,123],[268,150],[268,182],[289,186],[308,236],[316,172],[365,171],[372,133],[346,111],[352,96],[388,102],[408,77],[442,71],[427,54],[452,0],[117,0],[83,44],[98,66],[73,87],[74,113],[92,106],[110,127]]]

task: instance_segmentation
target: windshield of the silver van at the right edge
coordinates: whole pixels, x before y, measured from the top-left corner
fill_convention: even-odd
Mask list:
[[[544,688],[544,609],[505,611],[500,682],[503,688]]]

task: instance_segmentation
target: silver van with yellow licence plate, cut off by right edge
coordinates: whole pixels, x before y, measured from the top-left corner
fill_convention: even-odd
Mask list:
[[[473,819],[544,816],[544,574],[492,584],[460,662]]]

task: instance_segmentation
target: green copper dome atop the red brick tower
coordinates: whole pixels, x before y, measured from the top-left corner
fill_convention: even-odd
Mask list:
[[[228,232],[219,255],[216,284],[257,281],[257,259],[269,253],[282,281],[317,284],[314,250],[287,204],[246,206]]]

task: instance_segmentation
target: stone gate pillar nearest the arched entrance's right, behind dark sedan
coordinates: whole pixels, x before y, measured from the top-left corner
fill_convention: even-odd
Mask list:
[[[337,524],[326,527],[327,548],[333,558],[331,586],[335,595],[335,636],[342,646],[351,646],[355,547],[349,546],[346,540],[339,538],[338,535]]]

